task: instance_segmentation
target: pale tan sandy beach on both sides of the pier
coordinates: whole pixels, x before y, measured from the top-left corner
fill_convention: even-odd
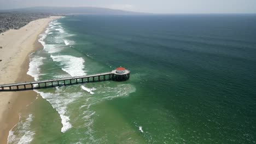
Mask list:
[[[10,29],[0,34],[0,85],[33,80],[26,74],[29,55],[43,47],[38,42],[39,34],[45,31],[50,21],[59,18],[35,20],[18,30]],[[19,121],[19,112],[36,96],[34,91],[0,92],[0,143],[7,143],[9,130]]]

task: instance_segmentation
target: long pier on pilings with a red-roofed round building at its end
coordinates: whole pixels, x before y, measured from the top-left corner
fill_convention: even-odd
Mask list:
[[[11,91],[27,91],[32,89],[75,85],[78,83],[88,83],[96,81],[126,81],[130,78],[130,71],[124,68],[117,68],[115,70],[86,76],[74,76],[65,77],[60,79],[42,80],[42,81],[30,81],[30,82],[19,82],[0,85],[0,92],[11,92]]]

